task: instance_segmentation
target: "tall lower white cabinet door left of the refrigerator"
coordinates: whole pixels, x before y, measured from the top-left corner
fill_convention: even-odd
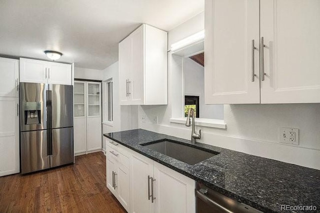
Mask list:
[[[18,98],[0,98],[0,176],[19,173]]]

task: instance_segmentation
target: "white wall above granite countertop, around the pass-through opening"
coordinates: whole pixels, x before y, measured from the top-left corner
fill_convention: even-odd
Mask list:
[[[198,26],[203,26],[204,19],[201,17],[196,20],[198,22],[193,18],[170,31],[170,42],[187,37],[191,31],[200,31]],[[176,105],[176,99],[172,98],[177,93],[174,80],[180,77],[172,72],[172,67],[179,66],[181,64],[178,60],[172,59],[169,53],[168,105],[139,106],[139,128],[190,138],[190,127],[169,122],[171,114],[174,114],[172,105]],[[145,115],[145,122],[141,121],[142,115]],[[151,122],[155,115],[158,116],[157,124]],[[320,104],[224,105],[224,121],[227,129],[201,128],[202,138],[199,142],[320,169]],[[300,144],[293,146],[279,143],[279,127],[299,128]]]

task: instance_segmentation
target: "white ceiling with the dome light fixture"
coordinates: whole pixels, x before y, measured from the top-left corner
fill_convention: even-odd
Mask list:
[[[204,10],[204,0],[0,0],[0,54],[104,69],[140,23],[169,31]]]

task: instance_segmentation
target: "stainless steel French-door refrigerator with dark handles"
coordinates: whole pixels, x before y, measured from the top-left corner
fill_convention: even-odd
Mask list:
[[[21,173],[73,163],[73,86],[21,82],[19,94]]]

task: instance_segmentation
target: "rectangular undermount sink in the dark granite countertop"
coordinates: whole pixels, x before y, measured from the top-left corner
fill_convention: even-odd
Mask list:
[[[205,151],[196,147],[186,146],[169,140],[141,145],[189,165],[197,164],[219,154],[210,150]]]

